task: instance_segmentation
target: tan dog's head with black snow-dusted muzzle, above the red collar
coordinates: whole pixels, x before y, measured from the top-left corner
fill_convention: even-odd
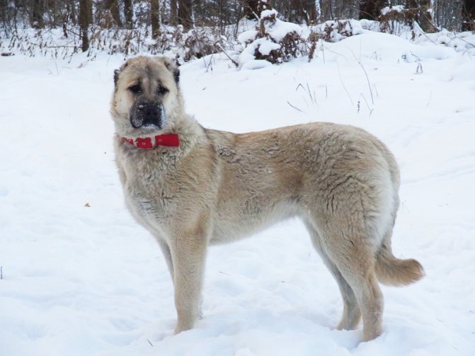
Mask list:
[[[166,129],[182,108],[180,71],[166,57],[134,57],[114,72],[115,130],[138,137]]]

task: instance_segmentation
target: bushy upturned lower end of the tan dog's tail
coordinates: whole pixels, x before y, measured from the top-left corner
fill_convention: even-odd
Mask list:
[[[417,260],[400,260],[391,250],[391,234],[384,237],[376,255],[376,275],[383,285],[410,285],[424,277],[424,268]]]

